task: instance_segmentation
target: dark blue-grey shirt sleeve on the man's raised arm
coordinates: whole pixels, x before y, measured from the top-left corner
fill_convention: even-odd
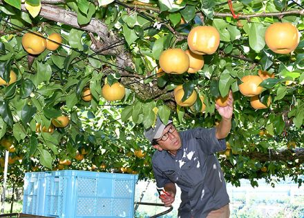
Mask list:
[[[198,146],[206,155],[226,150],[226,140],[216,138],[216,128],[196,128],[193,134],[198,139]]]

